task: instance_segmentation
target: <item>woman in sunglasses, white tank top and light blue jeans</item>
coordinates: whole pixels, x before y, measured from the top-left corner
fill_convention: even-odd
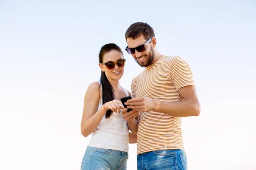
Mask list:
[[[128,143],[137,136],[129,133],[122,117],[120,99],[131,93],[119,84],[125,59],[116,44],[106,44],[99,52],[101,77],[89,85],[84,96],[81,133],[92,134],[81,164],[81,170],[126,170]]]

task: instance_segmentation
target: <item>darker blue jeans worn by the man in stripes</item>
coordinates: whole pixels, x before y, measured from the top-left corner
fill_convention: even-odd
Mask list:
[[[137,170],[187,170],[184,150],[156,150],[137,156]]]

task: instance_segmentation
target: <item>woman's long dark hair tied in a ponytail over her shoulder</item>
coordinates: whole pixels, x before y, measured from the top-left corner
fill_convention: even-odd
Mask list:
[[[109,43],[102,46],[102,48],[99,51],[99,63],[103,62],[103,56],[108,53],[109,51],[116,50],[120,52],[123,56],[121,48],[114,44]],[[104,71],[101,71],[101,77],[100,77],[100,83],[102,86],[102,104],[104,105],[106,102],[110,102],[114,99],[114,89],[111,86],[110,82],[108,81],[108,78],[106,77],[106,74]],[[112,115],[112,111],[108,110],[105,113],[105,117],[108,118]]]

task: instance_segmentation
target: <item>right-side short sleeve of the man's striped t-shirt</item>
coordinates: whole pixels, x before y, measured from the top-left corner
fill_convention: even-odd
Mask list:
[[[189,65],[181,57],[172,59],[169,76],[177,91],[185,86],[195,86],[192,71]]]

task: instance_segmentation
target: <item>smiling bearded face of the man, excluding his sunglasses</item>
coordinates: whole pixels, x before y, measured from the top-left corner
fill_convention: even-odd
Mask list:
[[[140,37],[133,40],[132,38],[127,39],[128,48],[136,48],[140,45],[144,45],[147,40],[145,40],[144,36],[141,35]],[[141,67],[148,67],[152,64],[154,60],[154,48],[151,44],[151,42],[148,42],[145,45],[145,51],[138,52],[135,50],[134,54],[131,54],[132,57],[134,57],[135,61],[141,66]]]

